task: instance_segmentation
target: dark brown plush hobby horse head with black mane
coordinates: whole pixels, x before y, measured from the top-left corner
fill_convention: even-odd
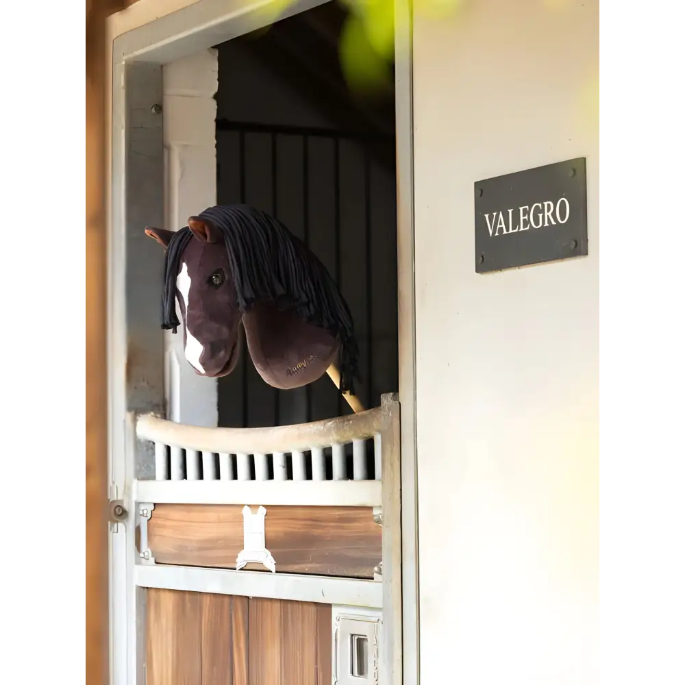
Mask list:
[[[212,207],[177,232],[146,228],[165,249],[162,328],[183,319],[186,360],[219,377],[240,357],[240,323],[257,371],[299,388],[340,369],[354,393],[358,346],[347,303],[325,266],[276,219],[245,205]]]

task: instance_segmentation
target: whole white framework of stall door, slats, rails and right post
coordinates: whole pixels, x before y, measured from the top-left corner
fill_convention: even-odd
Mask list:
[[[269,428],[190,426],[145,414],[136,436],[155,447],[155,479],[134,481],[132,493],[140,525],[137,588],[382,607],[380,662],[387,682],[401,683],[397,395],[383,395],[380,407],[359,414]],[[155,503],[373,507],[383,529],[382,563],[374,580],[278,573],[277,566],[259,573],[156,564],[146,525]]]

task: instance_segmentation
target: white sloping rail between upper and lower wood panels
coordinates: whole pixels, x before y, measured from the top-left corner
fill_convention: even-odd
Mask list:
[[[349,604],[381,608],[382,584],[373,580],[334,578],[325,575],[269,573],[204,569],[198,566],[151,566],[138,564],[134,571],[136,586],[187,590],[216,595],[271,597],[325,604]]]

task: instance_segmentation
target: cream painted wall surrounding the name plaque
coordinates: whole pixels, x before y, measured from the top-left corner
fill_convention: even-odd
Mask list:
[[[414,27],[421,683],[602,680],[599,0]],[[474,271],[473,183],[588,158],[589,255]]]

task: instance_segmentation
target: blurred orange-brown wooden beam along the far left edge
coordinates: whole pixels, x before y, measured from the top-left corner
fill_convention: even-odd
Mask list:
[[[84,5],[84,682],[109,682],[105,20],[126,0]]]

